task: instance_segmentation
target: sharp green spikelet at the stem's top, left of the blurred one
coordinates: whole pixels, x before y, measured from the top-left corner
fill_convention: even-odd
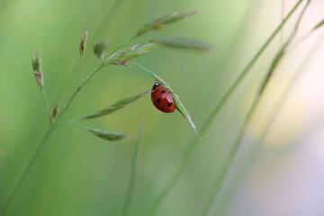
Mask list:
[[[135,44],[124,49],[118,49],[104,59],[106,65],[125,66],[131,58],[137,58],[143,54],[156,49],[157,43]]]

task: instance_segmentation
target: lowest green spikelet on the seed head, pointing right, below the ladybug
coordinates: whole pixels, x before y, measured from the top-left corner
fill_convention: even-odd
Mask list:
[[[76,122],[74,123],[77,127],[83,128],[85,130],[88,130],[92,132],[95,136],[107,140],[107,141],[121,141],[125,139],[130,139],[131,135],[128,133],[121,133],[121,132],[113,132],[113,131],[105,131],[105,130],[99,130],[99,129],[91,129],[87,128],[85,126],[82,126]]]

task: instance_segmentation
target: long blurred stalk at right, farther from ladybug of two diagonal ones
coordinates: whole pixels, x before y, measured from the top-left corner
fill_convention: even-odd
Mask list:
[[[233,164],[233,160],[236,156],[236,154],[238,153],[238,148],[240,146],[240,143],[245,135],[245,132],[247,130],[247,125],[249,123],[249,121],[252,120],[252,116],[253,116],[253,112],[255,112],[256,108],[257,108],[257,104],[260,101],[261,96],[264,93],[264,90],[266,89],[266,86],[269,83],[270,78],[273,76],[273,74],[275,73],[276,68],[278,67],[280,61],[282,60],[282,58],[284,57],[285,54],[285,50],[288,48],[288,46],[292,43],[297,31],[298,31],[298,27],[302,21],[302,16],[303,14],[306,12],[308,6],[310,5],[311,1],[307,1],[307,4],[305,4],[305,6],[302,9],[302,13],[299,15],[296,23],[295,23],[295,27],[293,28],[293,32],[291,33],[290,37],[288,38],[288,40],[286,40],[286,42],[284,43],[284,46],[282,49],[279,50],[279,52],[277,53],[277,55],[274,58],[273,64],[271,65],[269,71],[266,73],[266,77],[264,78],[263,82],[260,85],[260,89],[257,92],[256,98],[254,100],[254,102],[252,103],[251,107],[249,108],[247,115],[243,121],[243,127],[241,128],[241,130],[238,133],[238,137],[237,139],[235,139],[234,144],[232,145],[232,148],[230,148],[229,150],[229,155],[228,157],[226,157],[226,160],[224,162],[224,166],[221,167],[220,169],[220,175],[218,175],[215,184],[213,184],[212,188],[211,188],[211,193],[208,195],[207,197],[207,201],[204,203],[203,207],[202,207],[202,216],[208,216],[211,213],[211,208],[212,208],[212,204],[214,202],[216,202],[219,193],[220,193],[220,189],[222,184],[224,183],[224,180],[226,179],[228,173],[229,173],[229,169]]]

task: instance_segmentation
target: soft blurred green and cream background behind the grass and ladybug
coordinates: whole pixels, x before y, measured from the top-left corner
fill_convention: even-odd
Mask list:
[[[151,31],[205,40],[216,49],[196,53],[159,48],[138,59],[181,96],[198,130],[238,73],[295,4],[295,0],[84,0],[0,1],[0,202],[8,196],[49,127],[46,105],[31,70],[40,51],[51,106],[78,84],[78,45],[89,32],[84,67],[100,61],[92,44],[127,43],[149,20],[174,11],[203,13]],[[297,10],[266,49],[202,137],[158,215],[200,215],[211,186],[275,52],[293,29]],[[297,38],[323,19],[324,2],[312,0]],[[211,215],[324,215],[324,34],[320,29],[293,46],[275,72],[238,150]],[[279,112],[271,112],[299,73]],[[94,112],[154,80],[139,67],[108,67],[77,96],[65,120]],[[272,120],[267,123],[266,119]],[[149,96],[112,115],[83,121],[88,127],[145,132],[130,215],[147,215],[195,134],[179,113],[158,112]],[[260,142],[268,127],[266,138]],[[107,142],[67,125],[50,137],[17,193],[8,215],[121,215],[135,140]]]

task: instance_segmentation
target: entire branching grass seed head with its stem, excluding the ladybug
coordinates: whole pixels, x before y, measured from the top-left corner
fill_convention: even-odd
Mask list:
[[[47,94],[45,94],[44,90],[44,78],[43,78],[43,71],[41,67],[41,60],[40,60],[40,55],[37,52],[36,57],[34,59],[31,59],[31,66],[33,69],[34,76],[36,78],[37,84],[40,86],[40,90],[42,94],[44,95],[48,112],[49,112],[49,130],[47,131],[46,135],[44,138],[41,140],[40,145],[34,152],[33,156],[31,157],[31,160],[27,164],[27,166],[24,167],[23,169],[23,174],[19,177],[18,181],[16,184],[14,184],[14,189],[11,193],[9,193],[9,196],[7,197],[6,200],[4,200],[4,203],[0,207],[0,212],[1,215],[6,215],[8,213],[8,209],[11,206],[11,204],[14,202],[16,194],[19,192],[21,189],[23,182],[26,180],[28,177],[29,173],[31,172],[32,167],[36,164],[38,161],[38,158],[40,157],[40,154],[45,148],[45,145],[50,137],[50,135],[53,133],[54,130],[56,130],[58,127],[65,126],[68,123],[73,123],[79,128],[85,129],[91,133],[93,133],[96,137],[107,140],[107,141],[121,141],[121,140],[126,140],[126,139],[131,139],[133,135],[130,135],[128,133],[124,132],[115,132],[115,131],[110,131],[110,130],[101,130],[101,129],[92,129],[89,127],[85,127],[84,125],[81,125],[77,123],[76,121],[80,120],[85,120],[85,119],[94,119],[98,117],[102,117],[107,114],[111,114],[112,112],[118,112],[121,108],[129,105],[130,103],[135,103],[136,101],[139,100],[142,96],[148,94],[148,91],[145,91],[140,94],[133,94],[130,97],[121,99],[120,101],[117,101],[116,103],[113,103],[112,105],[103,108],[102,110],[99,110],[97,112],[93,112],[91,114],[85,115],[84,117],[80,117],[74,121],[66,121],[66,122],[59,122],[61,121],[61,117],[67,113],[69,107],[71,104],[74,102],[76,96],[81,92],[81,90],[84,88],[84,86],[93,79],[94,76],[98,75],[99,72],[103,71],[105,67],[108,66],[130,66],[129,63],[134,59],[138,58],[139,56],[142,56],[144,54],[147,54],[148,52],[157,49],[159,46],[160,40],[157,40],[156,42],[149,42],[149,43],[142,43],[142,44],[131,44],[132,41],[139,36],[142,36],[145,34],[147,31],[150,30],[160,30],[162,29],[162,26],[165,26],[168,23],[175,23],[177,21],[183,20],[189,15],[196,14],[198,11],[192,11],[192,12],[185,12],[185,13],[173,13],[173,14],[168,14],[164,17],[158,18],[151,23],[146,24],[142,29],[140,29],[136,35],[130,40],[128,43],[119,46],[118,49],[115,49],[114,51],[110,52],[108,55],[106,54],[106,50],[108,49],[107,44],[103,41],[97,41],[94,43],[94,55],[97,58],[102,59],[102,63],[100,64],[99,67],[97,67],[92,74],[87,76],[85,80],[83,80],[83,75],[84,75],[84,67],[83,67],[83,62],[82,58],[85,55],[85,48],[86,48],[86,43],[87,43],[87,38],[88,38],[88,32],[85,31],[83,34],[83,37],[79,43],[79,63],[80,63],[80,84],[76,87],[76,90],[71,94],[70,98],[68,100],[61,99],[58,101],[58,103],[55,104],[54,108],[51,110],[49,107],[49,101]],[[178,43],[179,46],[182,46],[184,49],[196,49],[196,50],[202,50],[202,49],[210,49],[209,46],[205,45],[202,47],[201,45],[197,44],[203,44],[202,41],[199,40],[187,40],[185,45],[183,45],[182,40],[178,40],[177,42],[175,41],[173,44],[169,44],[168,46],[170,47],[175,47],[176,43]],[[167,46],[166,43],[164,45]],[[153,74],[150,72],[151,75],[155,76],[155,79],[166,85],[166,83],[160,78],[159,76]],[[168,86],[168,85],[167,85]],[[168,86],[168,90],[170,93],[173,95],[175,99],[175,105],[178,109],[179,112],[184,116],[186,120],[188,120],[191,125],[194,128],[193,121],[191,120],[191,117],[189,116],[188,112],[186,112],[183,103],[181,103],[178,99],[178,96],[171,90],[171,88]],[[62,97],[64,98],[64,97]],[[61,108],[63,107],[63,108]],[[59,122],[59,123],[58,123]],[[195,128],[194,128],[195,129]],[[142,136],[142,135],[140,135]],[[140,140],[138,141],[138,143]],[[130,185],[131,185],[132,180],[130,179]],[[132,193],[131,190],[129,193]],[[128,195],[130,197],[131,195]],[[125,213],[128,210],[128,205],[130,202],[130,198],[127,198],[127,202],[125,202]]]

